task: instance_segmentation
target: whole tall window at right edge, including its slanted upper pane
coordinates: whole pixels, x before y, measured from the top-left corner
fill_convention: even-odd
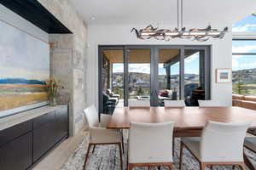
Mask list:
[[[232,31],[233,93],[256,95],[256,14],[233,24]]]

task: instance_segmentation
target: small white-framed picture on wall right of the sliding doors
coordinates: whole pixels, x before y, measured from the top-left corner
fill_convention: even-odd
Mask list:
[[[231,83],[232,70],[229,68],[216,69],[216,83]]]

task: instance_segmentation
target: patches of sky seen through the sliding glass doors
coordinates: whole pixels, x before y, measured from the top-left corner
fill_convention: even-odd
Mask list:
[[[159,64],[159,75],[166,75],[166,69],[163,64]],[[129,72],[141,72],[150,74],[150,64],[129,64]],[[113,64],[113,72],[123,72],[123,64]],[[199,53],[195,53],[185,59],[185,73],[198,74],[199,73]],[[171,66],[171,74],[179,74],[179,63]]]

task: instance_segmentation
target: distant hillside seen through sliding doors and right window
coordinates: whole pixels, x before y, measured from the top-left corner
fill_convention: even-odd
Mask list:
[[[232,71],[233,77],[233,93],[235,94],[254,94],[256,95],[256,68],[244,69],[239,71]],[[185,84],[199,83],[199,75],[185,74]],[[124,75],[121,72],[113,73],[113,89],[118,94],[123,94],[123,80]],[[166,89],[166,75],[159,75],[159,88]],[[171,88],[178,88],[179,75],[172,75]],[[119,90],[117,88],[120,88]],[[150,88],[150,74],[131,72],[129,73],[129,88],[136,90],[136,88],[143,88],[149,91]],[[121,90],[121,91],[120,91]]]

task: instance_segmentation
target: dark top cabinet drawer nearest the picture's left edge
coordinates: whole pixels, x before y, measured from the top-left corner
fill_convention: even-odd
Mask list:
[[[0,131],[0,146],[30,131],[32,131],[32,121],[22,122],[14,127],[4,129]]]

